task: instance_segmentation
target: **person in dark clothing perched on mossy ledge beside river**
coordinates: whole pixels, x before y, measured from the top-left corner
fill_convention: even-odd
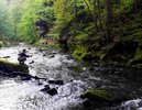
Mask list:
[[[30,55],[26,55],[26,50],[23,50],[21,53],[18,55],[18,61],[20,65],[24,65],[24,62],[26,61],[26,57],[30,57]]]

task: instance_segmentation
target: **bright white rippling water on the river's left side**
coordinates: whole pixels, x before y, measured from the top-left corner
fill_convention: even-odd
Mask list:
[[[18,63],[18,54],[22,48],[28,48],[26,45],[9,47],[0,50],[1,57],[10,56],[7,58],[9,62]],[[8,52],[8,53],[6,53]],[[66,55],[55,54],[55,57],[50,58],[43,56],[35,47],[31,47],[28,54],[32,55],[25,64],[30,67],[31,75],[45,74],[54,79],[54,75],[58,76],[62,72],[56,68],[64,66],[76,65],[74,59],[67,59]],[[30,62],[34,61],[33,64]],[[63,66],[63,68],[64,68]],[[46,67],[46,68],[44,68]],[[48,70],[50,69],[50,70]],[[62,77],[69,77],[67,68],[64,68]],[[69,110],[67,108],[76,107],[80,103],[79,95],[83,92],[81,86],[85,84],[81,80],[74,80],[63,86],[55,87],[58,91],[56,96],[50,96],[40,91],[44,88],[47,81],[43,81],[42,86],[37,81],[20,81],[14,79],[7,79],[0,81],[0,110]]]

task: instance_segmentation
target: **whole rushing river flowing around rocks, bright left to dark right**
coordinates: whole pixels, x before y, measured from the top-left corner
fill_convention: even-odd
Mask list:
[[[29,57],[25,64],[30,74],[46,79],[21,80],[20,77],[9,78],[0,76],[0,110],[142,110],[141,70],[94,67],[94,72],[77,64],[69,55],[59,54],[55,51],[40,51],[24,44],[0,50],[1,58],[18,63],[18,54],[26,48]],[[52,55],[50,55],[52,53]],[[54,54],[54,55],[53,55]],[[121,74],[120,74],[121,73]],[[127,77],[123,77],[123,74]],[[133,76],[129,76],[133,73]],[[139,79],[138,79],[139,77]],[[62,79],[64,85],[51,85],[57,89],[57,95],[50,96],[41,89],[48,85],[50,79]],[[86,89],[122,88],[133,91],[139,99],[129,100],[113,107],[99,109],[84,108],[83,99],[79,98]]]

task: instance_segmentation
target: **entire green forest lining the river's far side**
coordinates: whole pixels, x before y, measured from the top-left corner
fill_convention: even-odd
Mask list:
[[[141,0],[0,0],[1,40],[58,44],[78,61],[142,67],[141,22]]]

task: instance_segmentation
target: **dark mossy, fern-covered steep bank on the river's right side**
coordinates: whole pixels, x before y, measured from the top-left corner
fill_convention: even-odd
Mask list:
[[[101,18],[102,28],[98,21],[97,24],[100,29],[96,32],[90,13],[83,11],[76,16],[77,20],[69,21],[62,29],[61,44],[77,61],[94,61],[94,63],[112,66],[142,68],[142,24],[140,23],[142,12],[138,11],[141,10],[141,7],[135,10],[133,4],[134,2],[131,2],[130,8],[121,3],[120,6],[113,4],[109,42],[106,38],[107,28],[103,18]],[[138,6],[141,6],[141,1],[138,1]],[[105,14],[103,11],[102,14]]]

